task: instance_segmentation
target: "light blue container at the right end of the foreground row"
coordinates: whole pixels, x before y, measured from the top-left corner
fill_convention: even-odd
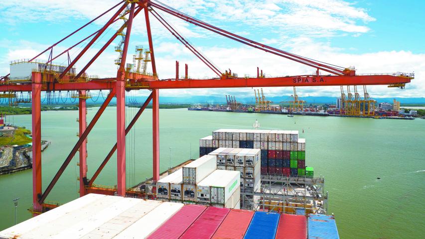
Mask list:
[[[310,215],[308,217],[308,239],[339,239],[333,216]]]

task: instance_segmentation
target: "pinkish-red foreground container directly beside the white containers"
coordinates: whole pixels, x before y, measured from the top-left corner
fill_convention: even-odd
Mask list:
[[[199,205],[185,205],[153,232],[148,239],[180,238],[206,208],[205,206]]]

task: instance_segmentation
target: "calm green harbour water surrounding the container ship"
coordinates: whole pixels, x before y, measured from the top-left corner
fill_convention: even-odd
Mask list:
[[[91,119],[97,109],[88,111]],[[134,115],[128,110],[128,117]],[[42,153],[43,190],[77,141],[76,111],[42,112],[42,138],[51,145]],[[266,114],[160,110],[160,169],[198,154],[198,139],[218,128],[299,130],[306,138],[306,165],[325,176],[329,210],[342,238],[422,238],[425,234],[425,120],[350,119]],[[30,128],[31,116],[14,116]],[[8,121],[11,121],[8,120]],[[116,141],[115,108],[105,111],[88,137],[88,175],[94,173]],[[151,111],[146,110],[128,137],[128,185],[151,177]],[[130,139],[131,138],[131,139]],[[115,157],[115,156],[114,156]],[[114,157],[112,159],[114,159]],[[78,158],[75,157],[47,201],[78,197]],[[115,185],[111,160],[96,183]],[[133,166],[134,165],[134,166]],[[133,173],[134,172],[134,173]],[[28,219],[31,170],[0,176],[0,229],[14,224],[12,199],[20,197],[18,222]],[[376,178],[380,177],[381,180]]]

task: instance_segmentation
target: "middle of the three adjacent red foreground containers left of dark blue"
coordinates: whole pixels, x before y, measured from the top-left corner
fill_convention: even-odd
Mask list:
[[[229,208],[208,207],[180,239],[210,239],[229,212]]]

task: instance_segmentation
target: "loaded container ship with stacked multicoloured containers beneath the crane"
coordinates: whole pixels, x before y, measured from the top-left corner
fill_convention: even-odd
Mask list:
[[[0,239],[339,238],[334,216],[326,215],[324,178],[306,166],[298,136],[215,130],[199,140],[198,159],[133,188],[145,198],[91,193],[0,232]]]

